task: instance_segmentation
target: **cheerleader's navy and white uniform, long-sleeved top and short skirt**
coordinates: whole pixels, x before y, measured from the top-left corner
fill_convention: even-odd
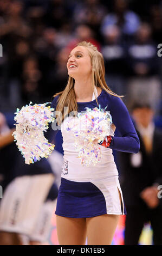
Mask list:
[[[51,107],[55,109],[57,99],[58,96],[51,103]],[[98,102],[101,108],[107,106],[106,110],[110,111],[113,124],[121,133],[121,137],[114,136],[111,129],[110,135],[113,136],[113,140],[109,148],[101,146],[101,161],[95,166],[85,167],[77,158],[77,152],[73,145],[73,133],[66,131],[63,121],[61,132],[64,162],[56,215],[82,218],[103,214],[126,214],[112,149],[138,153],[139,138],[128,110],[119,97],[102,90],[98,96]],[[90,102],[77,102],[78,112],[85,111],[86,107],[94,108],[96,106],[98,107],[95,99]],[[120,204],[119,192],[122,204]]]

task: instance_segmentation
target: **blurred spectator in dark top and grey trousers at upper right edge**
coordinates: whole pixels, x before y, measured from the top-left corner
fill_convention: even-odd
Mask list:
[[[127,103],[148,101],[156,109],[160,100],[161,82],[158,77],[160,58],[157,45],[151,37],[151,26],[144,22],[128,46],[127,70],[130,77],[127,83]]]

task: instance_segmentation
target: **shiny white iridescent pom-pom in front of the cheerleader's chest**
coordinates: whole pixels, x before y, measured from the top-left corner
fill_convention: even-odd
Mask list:
[[[66,130],[73,131],[74,147],[78,153],[83,166],[90,166],[101,161],[101,146],[93,143],[98,142],[110,135],[112,124],[111,114],[105,109],[95,107],[86,108],[85,112],[80,112],[77,117],[65,119]]]

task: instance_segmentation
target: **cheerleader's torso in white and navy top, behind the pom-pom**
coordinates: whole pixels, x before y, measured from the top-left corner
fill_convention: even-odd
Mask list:
[[[109,111],[109,95],[104,90],[99,88],[98,101],[101,108],[105,108],[108,105]],[[89,102],[77,102],[78,111],[85,111],[85,107],[94,108],[98,107],[96,100],[90,99]],[[63,121],[66,124],[65,120]],[[77,152],[74,148],[73,132],[67,131],[66,125],[61,125],[61,132],[63,137],[63,151],[64,151],[64,164],[62,169],[62,178],[73,180],[85,180],[88,181],[93,178],[105,178],[107,176],[118,175],[118,170],[114,162],[112,149],[101,147],[102,157],[101,161],[95,166],[82,166],[80,159],[77,157]],[[115,125],[111,126],[111,136],[114,136],[113,132]]]

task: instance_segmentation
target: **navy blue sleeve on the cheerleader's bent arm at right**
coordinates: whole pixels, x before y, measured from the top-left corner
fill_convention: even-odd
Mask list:
[[[140,142],[127,107],[119,97],[110,95],[109,98],[113,124],[122,136],[114,136],[109,148],[128,153],[138,153]]]

